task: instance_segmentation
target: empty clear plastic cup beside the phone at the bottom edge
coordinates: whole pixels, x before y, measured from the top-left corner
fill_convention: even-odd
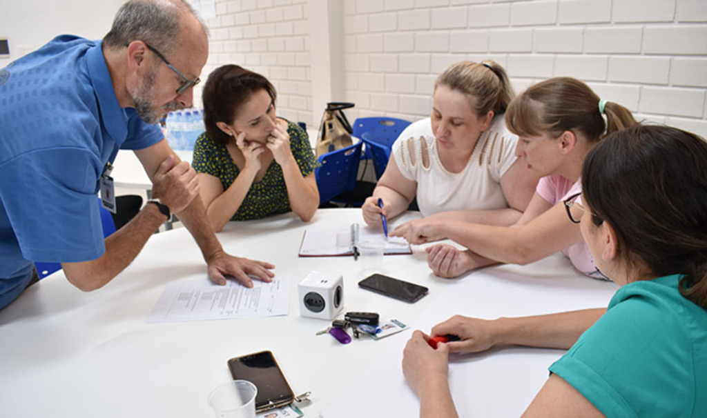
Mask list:
[[[209,395],[209,406],[217,418],[255,418],[257,393],[249,381],[222,383]]]

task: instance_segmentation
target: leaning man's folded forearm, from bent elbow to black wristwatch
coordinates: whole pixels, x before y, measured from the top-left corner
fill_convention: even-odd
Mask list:
[[[132,263],[163,222],[165,215],[157,205],[146,205],[124,227],[105,239],[103,256],[81,263],[62,263],[66,278],[84,292],[100,289]]]

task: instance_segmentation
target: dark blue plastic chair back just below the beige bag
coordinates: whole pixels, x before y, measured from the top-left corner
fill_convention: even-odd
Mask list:
[[[344,191],[356,188],[356,175],[358,163],[361,162],[361,148],[363,142],[331,153],[322,154],[318,160],[321,167],[315,169],[319,201],[322,203],[332,200]]]

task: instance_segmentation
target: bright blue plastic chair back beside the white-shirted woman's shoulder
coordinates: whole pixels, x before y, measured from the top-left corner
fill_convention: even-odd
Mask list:
[[[354,121],[354,136],[366,143],[366,155],[373,160],[376,179],[385,172],[393,143],[409,124],[404,119],[389,117],[366,117]]]

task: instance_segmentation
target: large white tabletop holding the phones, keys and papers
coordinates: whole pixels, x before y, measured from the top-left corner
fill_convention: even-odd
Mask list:
[[[375,311],[426,331],[457,312],[496,318],[606,306],[615,289],[576,273],[559,254],[444,280],[431,275],[423,248],[415,246],[413,255],[385,256],[381,271],[429,287],[428,296],[407,304],[359,289],[368,274],[360,260],[298,257],[305,228],[350,222],[362,222],[360,210],[318,210],[308,224],[292,214],[230,222],[218,234],[229,253],[269,261],[277,274],[291,275],[288,316],[146,323],[168,282],[206,277],[184,228],[151,237],[132,265],[95,292],[71,286],[62,271],[50,275],[0,311],[0,415],[211,417],[206,397],[230,380],[226,361],[271,350],[293,390],[312,391],[307,417],[389,416],[390,405],[397,405],[395,416],[413,417],[418,405],[399,367],[411,331],[349,345],[316,336],[329,323],[299,315],[296,286],[311,270],[344,274],[344,311]],[[474,402],[457,399],[462,416],[518,416],[561,354],[517,347],[453,362],[452,378],[463,367],[476,382],[469,386]]]

